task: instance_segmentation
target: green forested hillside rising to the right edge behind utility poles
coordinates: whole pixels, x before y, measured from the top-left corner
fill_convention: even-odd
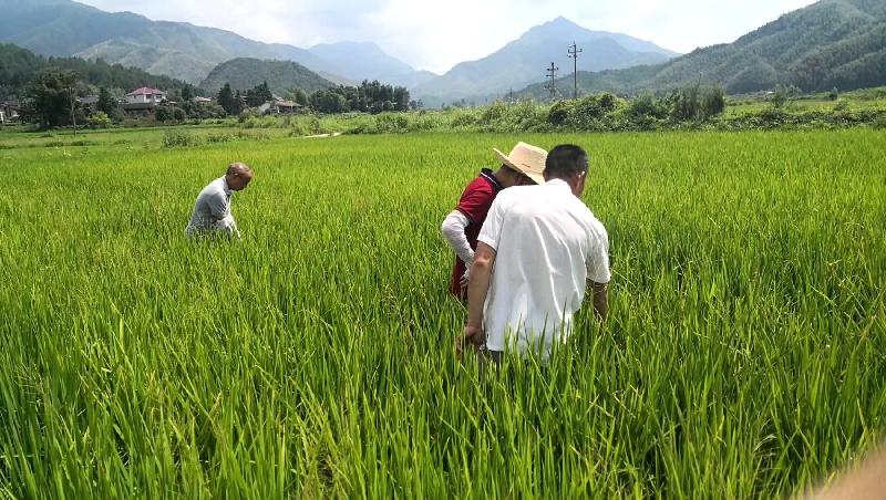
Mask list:
[[[806,92],[886,84],[886,2],[822,0],[781,17],[733,43],[699,49],[663,64],[597,73],[578,72],[583,92],[633,94],[696,82],[730,94],[793,84]],[[547,95],[543,83],[522,91]],[[558,87],[571,88],[573,75]]]

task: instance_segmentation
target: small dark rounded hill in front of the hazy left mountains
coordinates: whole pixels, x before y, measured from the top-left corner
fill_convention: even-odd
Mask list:
[[[276,94],[282,94],[292,87],[311,93],[334,86],[329,80],[299,63],[250,58],[238,58],[217,65],[199,86],[208,92],[217,92],[225,83],[230,83],[235,90],[248,90],[262,82],[268,82],[268,86]]]

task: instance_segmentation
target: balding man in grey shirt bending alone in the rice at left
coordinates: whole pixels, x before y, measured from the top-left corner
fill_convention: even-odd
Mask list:
[[[197,195],[194,213],[185,228],[185,236],[224,235],[239,238],[240,231],[237,230],[237,222],[230,215],[230,197],[234,191],[246,189],[250,180],[253,180],[253,170],[248,165],[230,164],[223,177],[209,183]]]

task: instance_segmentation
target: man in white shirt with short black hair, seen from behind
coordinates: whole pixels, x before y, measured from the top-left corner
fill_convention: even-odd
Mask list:
[[[586,288],[597,317],[606,319],[609,237],[579,199],[587,170],[580,147],[560,145],[547,155],[544,185],[496,197],[477,238],[456,354],[485,344],[496,363],[509,350],[547,360],[571,333]]]

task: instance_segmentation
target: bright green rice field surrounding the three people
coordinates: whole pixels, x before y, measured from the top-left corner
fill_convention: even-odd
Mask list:
[[[883,132],[93,135],[0,135],[0,498],[777,498],[883,436]],[[480,382],[439,227],[517,140],[590,153],[610,313]]]

